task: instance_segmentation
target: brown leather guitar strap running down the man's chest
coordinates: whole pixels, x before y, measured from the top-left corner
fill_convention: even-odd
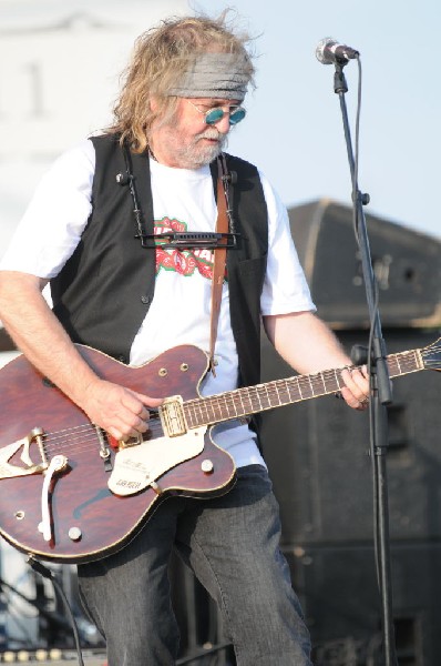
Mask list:
[[[226,192],[223,182],[223,175],[225,171],[225,163],[217,160],[217,221],[216,232],[227,234],[228,233],[228,216],[227,216],[227,201]],[[216,345],[217,337],[217,324],[219,321],[221,302],[222,302],[222,287],[225,279],[225,266],[227,255],[227,238],[224,235],[219,239],[217,248],[214,252],[213,261],[213,280],[212,280],[212,315],[211,315],[211,331],[209,331],[209,370],[213,375],[216,376],[215,372],[215,360],[214,349]]]

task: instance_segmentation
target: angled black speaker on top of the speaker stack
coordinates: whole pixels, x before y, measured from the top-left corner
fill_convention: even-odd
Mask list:
[[[336,329],[368,325],[352,210],[320,200],[288,210],[293,238],[319,315]],[[367,214],[382,325],[441,324],[441,242]]]

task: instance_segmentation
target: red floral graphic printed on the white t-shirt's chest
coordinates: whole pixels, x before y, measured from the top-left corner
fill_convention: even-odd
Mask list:
[[[185,232],[187,224],[178,220],[163,218],[155,220],[154,233],[160,235],[167,232]],[[197,270],[201,275],[207,280],[213,276],[213,251],[212,250],[175,250],[172,248],[162,248],[167,243],[167,239],[156,239],[156,275],[163,269],[165,271],[175,271],[184,276],[193,275]]]

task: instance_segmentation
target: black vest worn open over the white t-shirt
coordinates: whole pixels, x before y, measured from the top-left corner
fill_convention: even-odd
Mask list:
[[[126,165],[117,138],[92,139],[96,153],[92,214],[81,241],[51,281],[53,310],[74,342],[129,362],[134,336],[154,296],[155,252],[135,239],[133,200],[116,176]],[[227,252],[232,327],[240,384],[260,380],[260,293],[268,252],[267,208],[257,169],[226,155],[237,173],[232,208],[237,249]],[[153,233],[148,155],[132,154],[145,232]],[[215,165],[212,169],[216,178]],[[191,231],[191,230],[189,230]]]

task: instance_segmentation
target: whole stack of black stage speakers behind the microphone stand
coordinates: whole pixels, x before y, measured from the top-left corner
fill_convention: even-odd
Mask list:
[[[318,314],[348,351],[367,345],[368,310],[349,208],[289,210]],[[387,352],[427,346],[441,329],[441,243],[367,215]],[[293,341],[295,344],[295,341]],[[261,380],[293,370],[264,339]],[[441,374],[393,381],[387,478],[399,666],[441,664]],[[369,416],[334,396],[263,415],[264,455],[280,504],[283,551],[317,666],[383,666],[373,555]]]

